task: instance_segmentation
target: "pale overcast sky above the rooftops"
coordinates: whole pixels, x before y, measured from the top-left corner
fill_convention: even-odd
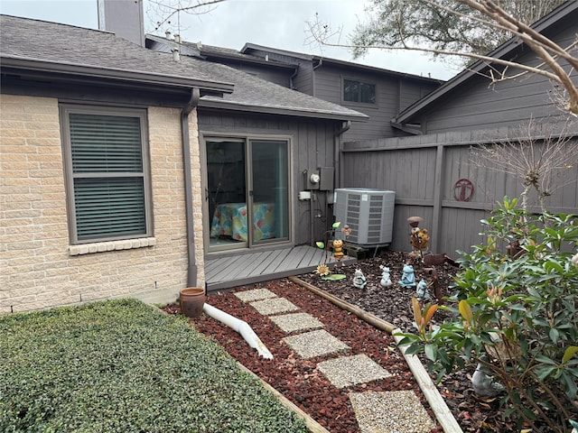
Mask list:
[[[177,0],[160,1],[174,5]],[[190,4],[195,0],[181,2]],[[370,0],[226,0],[203,14],[181,14],[178,20],[172,19],[171,26],[164,25],[156,33],[164,35],[165,30],[171,30],[180,32],[184,41],[234,50],[250,42],[423,77],[449,79],[459,72],[415,51],[372,50],[354,60],[345,48],[310,43],[308,23],[313,23],[316,16],[331,29],[340,29],[340,37],[335,36],[332,42],[347,43],[355,25],[364,21],[365,7],[371,4]],[[0,13],[98,29],[97,5],[98,0],[0,0]],[[145,32],[154,32],[157,11],[151,0],[144,0]]]

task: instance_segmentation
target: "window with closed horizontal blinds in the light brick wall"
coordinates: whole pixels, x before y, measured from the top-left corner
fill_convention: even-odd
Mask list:
[[[150,234],[145,113],[63,107],[73,244]]]

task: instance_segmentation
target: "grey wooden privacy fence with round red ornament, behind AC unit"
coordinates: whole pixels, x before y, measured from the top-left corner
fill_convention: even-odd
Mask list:
[[[484,242],[480,220],[489,217],[504,196],[519,198],[523,191],[516,176],[471,162],[471,147],[499,143],[512,137],[513,128],[416,135],[343,143],[340,149],[340,188],[396,191],[394,234],[390,249],[409,251],[407,217],[424,218],[430,232],[430,250],[456,257]],[[578,131],[566,146],[578,145]],[[536,137],[540,139],[541,137]],[[510,139],[511,140],[511,139]],[[578,167],[564,170],[547,200],[551,212],[578,214]],[[536,193],[528,207],[539,211]]]

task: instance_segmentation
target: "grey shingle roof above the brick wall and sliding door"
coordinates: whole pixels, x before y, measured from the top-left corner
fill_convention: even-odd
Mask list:
[[[201,97],[200,106],[222,106],[241,111],[284,115],[304,115],[335,119],[365,120],[349,108],[275,85],[247,73],[207,60],[147,50],[114,33],[0,15],[0,56],[5,59],[32,60],[66,66],[107,69],[108,72],[138,72],[158,77],[183,78],[185,81],[212,83],[226,88],[234,84],[232,94]],[[3,61],[4,63],[4,61]]]

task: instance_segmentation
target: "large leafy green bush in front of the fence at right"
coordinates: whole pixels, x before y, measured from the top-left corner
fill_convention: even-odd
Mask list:
[[[487,243],[461,253],[452,320],[428,327],[438,306],[414,301],[418,333],[409,353],[423,352],[440,375],[485,365],[505,386],[501,403],[534,431],[570,431],[578,379],[578,222],[575,216],[528,214],[505,198],[486,226]]]

